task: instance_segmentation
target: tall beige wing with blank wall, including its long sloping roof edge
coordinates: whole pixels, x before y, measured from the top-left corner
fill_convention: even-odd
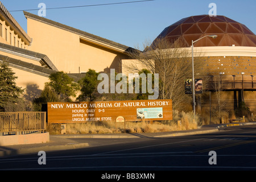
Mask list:
[[[46,54],[59,71],[109,73],[114,68],[120,72],[121,60],[128,58],[127,46],[31,13],[24,15],[33,39],[28,49]]]

